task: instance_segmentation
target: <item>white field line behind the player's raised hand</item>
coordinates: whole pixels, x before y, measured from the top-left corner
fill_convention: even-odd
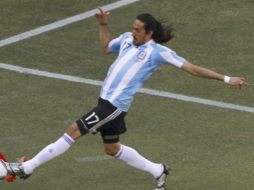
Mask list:
[[[105,10],[105,11],[110,11],[110,10],[113,10],[113,9],[117,9],[117,8],[129,5],[131,3],[135,3],[137,1],[139,1],[139,0],[116,1],[115,3],[111,3],[111,4],[108,4],[108,5],[102,6],[102,9]],[[63,19],[63,20],[53,22],[53,23],[45,25],[45,26],[35,28],[33,30],[30,30],[30,31],[27,31],[27,32],[24,32],[24,33],[21,33],[21,34],[18,34],[18,35],[6,38],[6,39],[0,41],[0,47],[15,43],[15,42],[27,39],[27,38],[30,38],[32,36],[42,34],[44,32],[48,32],[48,31],[66,26],[68,24],[72,24],[72,23],[84,20],[86,18],[94,16],[95,13],[97,13],[97,12],[98,12],[97,9],[93,9],[93,10],[90,10],[90,11],[72,16],[72,17],[68,17],[68,18]]]

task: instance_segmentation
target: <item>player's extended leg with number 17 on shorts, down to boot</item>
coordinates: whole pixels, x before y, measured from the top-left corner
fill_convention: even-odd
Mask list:
[[[27,178],[34,169],[66,152],[79,137],[87,133],[96,133],[101,125],[119,114],[121,114],[120,110],[111,106],[109,102],[99,99],[99,103],[94,109],[73,123],[62,137],[46,146],[31,160],[23,163],[8,163],[10,166],[9,173]]]

